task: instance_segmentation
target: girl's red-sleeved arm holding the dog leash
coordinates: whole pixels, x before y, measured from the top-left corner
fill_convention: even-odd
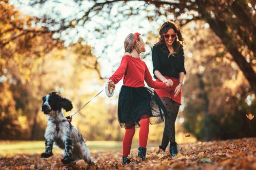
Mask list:
[[[128,60],[127,58],[123,57],[120,66],[115,71],[115,73],[109,78],[109,80],[112,80],[114,84],[117,84],[123,78],[127,65]]]

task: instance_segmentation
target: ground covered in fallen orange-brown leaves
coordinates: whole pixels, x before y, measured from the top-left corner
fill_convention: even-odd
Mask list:
[[[63,165],[62,155],[40,158],[39,154],[0,156],[1,170],[256,170],[256,138],[226,141],[180,144],[180,153],[170,156],[169,152],[157,153],[158,148],[148,148],[147,160],[141,162],[138,151],[132,150],[132,163],[121,165],[121,150],[92,151],[94,166],[83,161],[76,165]]]

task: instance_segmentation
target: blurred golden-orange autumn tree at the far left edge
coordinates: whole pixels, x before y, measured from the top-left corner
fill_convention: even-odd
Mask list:
[[[39,101],[28,86],[32,68],[36,60],[61,43],[46,29],[32,27],[35,18],[20,14],[8,1],[0,2],[0,11],[1,138],[29,138],[28,122],[37,113],[34,103]]]

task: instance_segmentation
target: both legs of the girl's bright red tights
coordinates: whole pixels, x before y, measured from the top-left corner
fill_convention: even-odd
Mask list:
[[[149,118],[140,119],[140,129],[139,129],[139,147],[146,148],[148,141],[149,132]],[[135,134],[135,126],[131,129],[125,129],[125,134],[123,137],[123,156],[127,157],[131,152],[131,146],[133,141],[133,136]]]

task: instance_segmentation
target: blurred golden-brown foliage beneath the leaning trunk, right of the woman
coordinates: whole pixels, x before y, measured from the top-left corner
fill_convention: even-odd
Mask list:
[[[182,87],[185,129],[207,141],[256,136],[256,121],[250,127],[246,118],[246,114],[255,114],[254,91],[221,40],[203,21],[192,21],[182,31],[190,39],[186,49],[189,71]]]

